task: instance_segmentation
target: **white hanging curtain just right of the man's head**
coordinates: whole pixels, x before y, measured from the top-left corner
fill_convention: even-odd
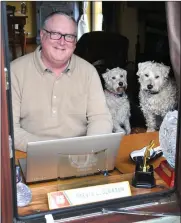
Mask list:
[[[84,34],[89,32],[89,23],[88,23],[88,17],[87,17],[87,7],[88,2],[83,2],[83,14],[81,15],[79,22],[78,22],[78,33],[77,33],[77,40],[80,39],[80,37]]]

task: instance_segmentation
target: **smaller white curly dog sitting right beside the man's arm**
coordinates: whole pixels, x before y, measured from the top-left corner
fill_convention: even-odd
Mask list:
[[[102,74],[105,81],[105,96],[113,119],[113,132],[130,134],[130,104],[125,93],[127,88],[127,71],[119,67],[107,69]]]

